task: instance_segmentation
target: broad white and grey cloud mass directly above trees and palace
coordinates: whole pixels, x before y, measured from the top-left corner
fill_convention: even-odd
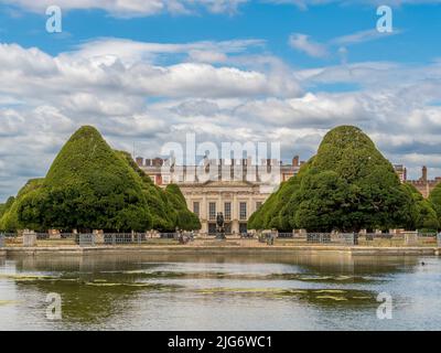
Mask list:
[[[249,45],[263,54],[247,54]],[[164,55],[176,54],[174,64],[161,65]],[[432,105],[441,101],[440,62],[294,71],[265,53],[261,41],[101,39],[57,56],[1,44],[0,81],[6,83],[0,85],[0,167],[8,165],[0,170],[0,200],[44,175],[61,146],[85,124],[95,125],[115,148],[132,151],[135,142],[144,157],[194,131],[198,141],[281,141],[284,159],[297,153],[308,159],[330,128],[352,124],[411,172],[422,161],[441,169],[441,107]],[[359,88],[322,88],[338,84]]]

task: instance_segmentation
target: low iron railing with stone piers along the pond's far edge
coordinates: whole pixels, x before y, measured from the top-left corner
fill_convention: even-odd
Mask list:
[[[401,233],[288,233],[276,231],[263,231],[257,234],[237,234],[227,240],[247,239],[258,240],[267,244],[289,245],[289,244],[321,244],[321,245],[347,245],[347,246],[432,246],[441,247],[441,233],[401,232]],[[103,245],[142,245],[142,244],[164,244],[178,242],[187,244],[189,242],[209,240],[204,234],[193,232],[148,232],[148,233],[34,233],[32,231],[18,233],[0,233],[0,244],[6,247],[11,244],[23,246],[58,244],[77,244],[80,246],[103,246]]]

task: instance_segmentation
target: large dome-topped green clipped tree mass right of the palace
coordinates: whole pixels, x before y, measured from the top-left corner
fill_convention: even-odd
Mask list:
[[[363,131],[341,126],[326,133],[316,156],[263,206],[251,226],[330,232],[388,229],[412,222],[411,193]]]

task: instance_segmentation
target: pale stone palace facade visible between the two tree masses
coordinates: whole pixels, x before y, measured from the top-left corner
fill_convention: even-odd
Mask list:
[[[247,232],[249,216],[280,185],[298,173],[303,163],[295,156],[292,163],[276,159],[259,164],[248,159],[208,160],[201,165],[175,165],[161,158],[136,158],[137,164],[154,184],[180,186],[187,206],[198,215],[202,233],[215,234],[216,215],[224,214],[227,234]]]

